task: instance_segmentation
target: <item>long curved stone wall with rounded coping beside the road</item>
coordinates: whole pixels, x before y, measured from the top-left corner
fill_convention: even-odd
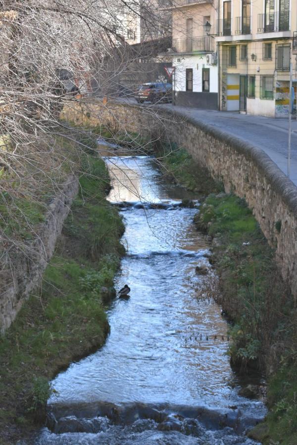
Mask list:
[[[297,298],[297,187],[262,150],[161,106],[89,100],[72,102],[63,114],[76,123],[161,137],[184,147],[227,192],[246,199]]]

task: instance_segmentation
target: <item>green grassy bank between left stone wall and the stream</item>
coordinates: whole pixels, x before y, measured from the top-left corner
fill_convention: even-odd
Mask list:
[[[109,331],[104,304],[124,253],[124,226],[106,200],[104,162],[82,160],[73,202],[42,289],[25,302],[0,338],[0,443],[14,443],[43,422],[49,380],[78,357],[99,348]]]

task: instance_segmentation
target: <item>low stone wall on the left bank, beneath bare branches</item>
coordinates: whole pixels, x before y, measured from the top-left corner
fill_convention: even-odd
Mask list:
[[[57,237],[62,231],[63,222],[77,193],[78,178],[71,175],[48,205],[45,221],[36,229],[37,237],[28,242],[26,253],[18,252],[11,261],[10,269],[1,272],[1,333],[10,326],[30,293],[40,286]]]

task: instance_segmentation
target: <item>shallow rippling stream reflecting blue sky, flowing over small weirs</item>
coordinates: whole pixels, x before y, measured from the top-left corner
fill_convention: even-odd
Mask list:
[[[104,347],[52,382],[49,428],[35,443],[255,444],[244,432],[265,407],[238,395],[226,322],[201,298],[196,267],[211,267],[197,208],[180,206],[184,190],[164,184],[152,158],[106,163],[126,224],[115,285],[127,283],[130,298],[111,304]]]

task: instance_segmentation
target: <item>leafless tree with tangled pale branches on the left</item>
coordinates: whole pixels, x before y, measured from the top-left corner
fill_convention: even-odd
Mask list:
[[[112,89],[117,98],[119,75],[143,54],[127,44],[127,29],[141,20],[159,30],[156,14],[147,0],[0,2],[2,283],[16,279],[16,258],[34,258],[36,226],[79,169],[80,146],[67,144],[73,135],[59,120],[65,101],[90,94],[94,80],[99,94]],[[147,48],[144,57],[153,52]]]

